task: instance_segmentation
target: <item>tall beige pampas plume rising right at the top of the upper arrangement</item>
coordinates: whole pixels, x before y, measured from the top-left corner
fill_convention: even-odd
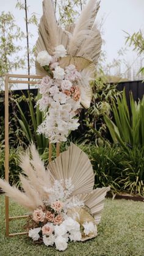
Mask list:
[[[72,56],[81,56],[79,55],[79,49],[83,48],[85,38],[91,38],[92,42],[94,43],[95,38],[92,37],[91,31],[98,9],[99,2],[96,0],[89,0],[88,4],[85,5],[79,20],[74,27],[73,36],[71,37],[68,46],[68,54]]]

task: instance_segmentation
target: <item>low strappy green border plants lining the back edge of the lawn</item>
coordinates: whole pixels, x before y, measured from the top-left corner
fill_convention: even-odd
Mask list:
[[[63,143],[60,151],[63,152],[70,142]],[[110,186],[112,193],[128,192],[144,195],[144,147],[127,151],[115,145],[96,147],[92,144],[77,144],[90,159],[95,172],[95,188]],[[10,148],[10,184],[20,186],[18,175],[21,168],[18,166],[19,154],[24,152],[22,147]],[[41,155],[45,166],[48,165],[48,148]],[[52,159],[56,157],[56,147],[52,145]],[[0,177],[4,178],[4,149],[0,151]]]

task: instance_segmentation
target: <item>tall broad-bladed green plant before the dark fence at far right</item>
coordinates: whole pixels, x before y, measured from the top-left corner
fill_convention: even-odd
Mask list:
[[[119,142],[121,146],[129,145],[130,147],[144,146],[144,97],[139,103],[134,101],[130,93],[130,106],[126,101],[125,91],[123,97],[117,99],[117,104],[113,103],[112,112],[114,121],[107,115],[104,120],[109,128],[113,142]],[[128,147],[125,147],[127,150]]]

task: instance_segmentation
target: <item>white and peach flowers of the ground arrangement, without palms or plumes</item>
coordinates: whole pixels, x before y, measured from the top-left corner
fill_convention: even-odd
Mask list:
[[[65,188],[64,186],[65,185]],[[29,216],[29,237],[64,251],[68,240],[81,241],[96,236],[96,224],[90,210],[77,197],[71,197],[74,186],[71,178],[54,181],[54,186],[46,189],[49,199],[43,207],[38,207]],[[33,227],[33,228],[32,228]]]

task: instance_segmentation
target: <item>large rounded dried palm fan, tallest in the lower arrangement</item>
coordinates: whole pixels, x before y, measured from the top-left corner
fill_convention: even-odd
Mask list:
[[[71,178],[74,185],[74,195],[91,192],[94,185],[92,164],[88,156],[74,144],[68,150],[60,153],[54,161],[48,164],[53,180]]]

